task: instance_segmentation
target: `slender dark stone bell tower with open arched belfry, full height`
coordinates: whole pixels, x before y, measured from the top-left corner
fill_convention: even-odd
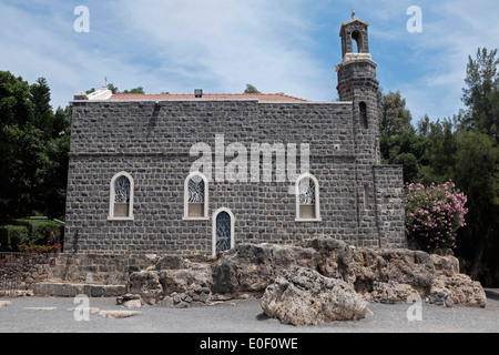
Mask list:
[[[352,102],[352,133],[355,146],[355,189],[358,239],[381,245],[376,166],[380,164],[378,81],[369,53],[369,23],[357,18],[343,23],[342,62],[336,67],[340,101]]]

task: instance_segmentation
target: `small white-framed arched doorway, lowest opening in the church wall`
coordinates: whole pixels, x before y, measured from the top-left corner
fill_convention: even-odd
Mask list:
[[[212,255],[234,247],[234,214],[222,207],[213,214]]]

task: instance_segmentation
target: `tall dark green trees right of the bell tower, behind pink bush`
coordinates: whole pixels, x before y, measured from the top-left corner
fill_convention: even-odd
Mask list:
[[[472,278],[489,286],[499,285],[498,67],[497,50],[478,49],[467,64],[466,110],[452,119],[425,116],[416,130],[398,92],[378,93],[383,162],[403,164],[406,183],[456,183],[469,212],[467,226],[457,232],[455,253]],[[435,206],[437,200],[428,204]]]

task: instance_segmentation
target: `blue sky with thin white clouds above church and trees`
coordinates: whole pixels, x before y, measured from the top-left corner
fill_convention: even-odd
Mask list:
[[[369,23],[383,92],[400,92],[413,124],[457,114],[468,57],[499,47],[497,0],[1,0],[0,70],[45,78],[54,109],[106,82],[146,93],[242,93],[251,83],[336,101],[339,28],[353,9]]]

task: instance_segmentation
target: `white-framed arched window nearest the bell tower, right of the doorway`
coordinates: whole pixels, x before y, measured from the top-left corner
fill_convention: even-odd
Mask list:
[[[296,220],[320,221],[318,181],[309,173],[296,180]]]

